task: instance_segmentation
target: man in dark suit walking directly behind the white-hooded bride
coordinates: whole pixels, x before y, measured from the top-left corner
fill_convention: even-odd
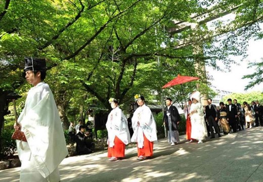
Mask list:
[[[208,105],[205,106],[205,117],[206,117],[206,120],[208,121],[209,128],[211,131],[210,139],[214,138],[213,127],[214,127],[215,132],[218,134],[218,137],[221,137],[218,124],[216,123],[216,120],[217,120],[216,106],[212,104],[212,99],[207,99],[207,103]]]

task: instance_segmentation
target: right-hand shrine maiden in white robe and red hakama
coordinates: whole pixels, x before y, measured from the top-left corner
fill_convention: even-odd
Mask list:
[[[157,130],[152,112],[145,105],[144,97],[136,95],[135,99],[140,107],[136,109],[133,118],[131,118],[134,129],[131,142],[137,142],[137,160],[141,161],[153,156],[153,142],[157,141]]]

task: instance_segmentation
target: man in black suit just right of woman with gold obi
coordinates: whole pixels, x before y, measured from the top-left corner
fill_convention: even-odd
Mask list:
[[[236,128],[236,118],[237,118],[237,107],[232,104],[232,99],[228,99],[227,105],[227,120],[229,124],[231,125],[233,132],[237,132]]]

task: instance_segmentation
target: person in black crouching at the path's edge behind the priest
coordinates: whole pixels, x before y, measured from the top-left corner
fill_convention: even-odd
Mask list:
[[[90,154],[92,153],[92,150],[87,148],[87,138],[89,136],[89,133],[85,132],[85,126],[80,125],[79,126],[79,132],[75,136],[76,141],[76,152],[80,155],[83,154]]]

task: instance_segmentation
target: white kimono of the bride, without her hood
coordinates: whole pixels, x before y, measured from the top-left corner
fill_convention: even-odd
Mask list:
[[[198,102],[191,104],[190,113],[196,110],[196,113],[190,115],[191,117],[191,138],[199,141],[204,140],[207,136],[207,130],[204,120],[203,106]]]

